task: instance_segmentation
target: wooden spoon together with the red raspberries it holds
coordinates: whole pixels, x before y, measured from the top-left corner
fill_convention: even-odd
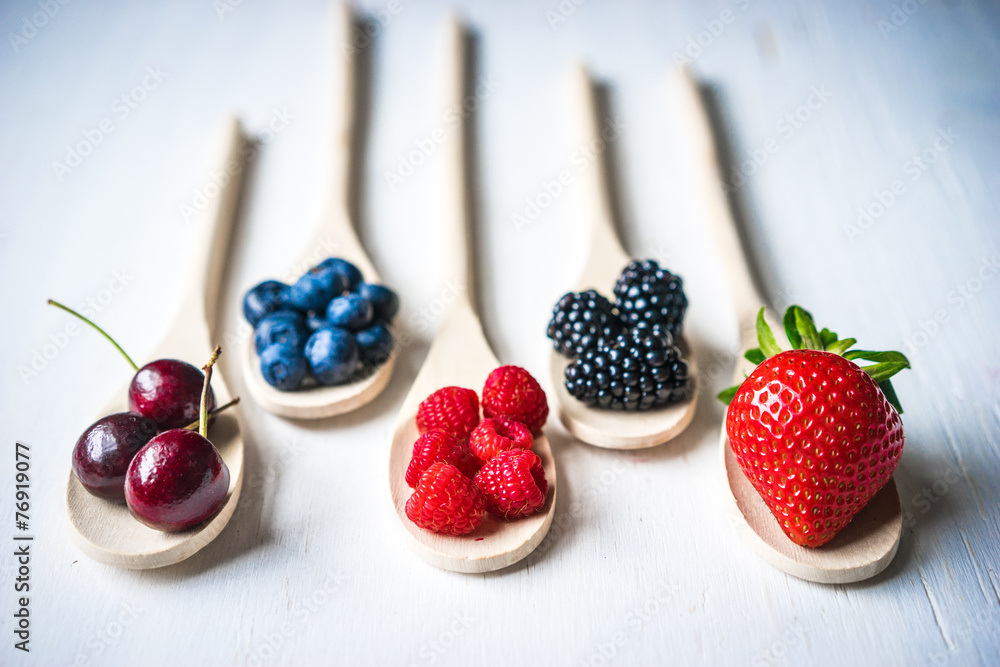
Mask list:
[[[468,34],[452,18],[445,37],[443,109],[456,110],[467,93]],[[445,277],[463,289],[403,400],[388,472],[407,545],[437,567],[476,573],[516,563],[541,543],[555,512],[556,469],[541,431],[544,391],[523,368],[500,366],[473,306],[466,123],[454,117],[438,149],[448,187],[440,217]]]

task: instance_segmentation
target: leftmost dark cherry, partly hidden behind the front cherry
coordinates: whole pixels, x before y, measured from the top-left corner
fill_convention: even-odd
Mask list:
[[[135,412],[118,412],[90,425],[73,448],[73,473],[98,498],[125,502],[125,473],[156,423]]]

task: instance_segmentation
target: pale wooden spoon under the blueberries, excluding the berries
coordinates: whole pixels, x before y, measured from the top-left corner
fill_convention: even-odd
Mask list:
[[[361,247],[351,222],[350,198],[352,140],[355,134],[355,95],[357,93],[356,55],[345,50],[344,45],[352,44],[354,35],[354,14],[347,3],[336,3],[333,12],[334,69],[336,70],[335,95],[333,99],[333,150],[331,163],[334,185],[329,208],[320,222],[312,240],[306,245],[299,260],[289,271],[296,278],[331,254],[346,259],[357,266],[365,281],[380,282],[368,255]],[[320,419],[340,415],[365,405],[378,396],[389,382],[396,363],[396,352],[371,375],[348,384],[323,386],[309,385],[296,391],[280,391],[265,380],[260,372],[260,360],[254,349],[253,336],[246,341],[243,350],[243,376],[247,379],[247,389],[265,410],[293,419]]]

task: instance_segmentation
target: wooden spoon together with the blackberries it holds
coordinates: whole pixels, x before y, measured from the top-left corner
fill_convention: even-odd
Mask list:
[[[574,76],[580,145],[602,145],[594,84],[583,67]],[[589,248],[580,291],[559,300],[548,329],[559,418],[597,447],[654,447],[687,428],[698,399],[697,367],[680,333],[687,298],[678,276],[653,260],[631,261],[622,249],[600,155],[586,175]],[[612,286],[614,303],[601,294]]]

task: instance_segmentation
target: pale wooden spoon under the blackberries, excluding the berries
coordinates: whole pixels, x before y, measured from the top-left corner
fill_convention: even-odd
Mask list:
[[[580,145],[599,145],[595,142],[604,139],[601,137],[593,81],[582,66],[575,70],[574,79],[581,111],[578,120]],[[583,274],[577,281],[577,290],[596,289],[607,294],[632,258],[622,249],[615,234],[610,186],[603,157],[598,156],[587,166],[585,178],[583,187],[587,197],[587,217],[590,219],[589,248]],[[583,442],[606,449],[654,447],[680,434],[694,418],[698,401],[698,367],[684,338],[679,338],[677,343],[688,363],[691,393],[683,403],[645,412],[616,412],[587,407],[566,390],[564,374],[570,359],[552,350],[549,375],[559,403],[559,419],[566,430]]]

